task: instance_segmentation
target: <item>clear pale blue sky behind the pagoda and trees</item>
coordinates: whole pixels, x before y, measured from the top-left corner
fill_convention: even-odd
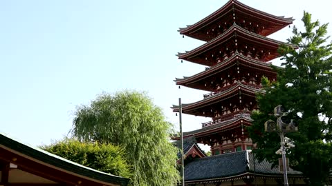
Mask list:
[[[303,10],[331,21],[330,1],[243,0],[248,6],[294,17]],[[324,2],[324,3],[323,3]],[[145,90],[178,124],[169,109],[203,98],[199,90],[178,87],[175,77],[205,67],[181,63],[177,52],[201,45],[177,30],[203,19],[225,0],[0,1],[0,132],[32,145],[68,134],[76,105],[101,92]],[[331,25],[332,26],[332,25]],[[329,27],[329,34],[331,32]],[[291,28],[271,37],[285,41]],[[277,63],[277,62],[276,62]],[[184,131],[209,118],[183,116]]]

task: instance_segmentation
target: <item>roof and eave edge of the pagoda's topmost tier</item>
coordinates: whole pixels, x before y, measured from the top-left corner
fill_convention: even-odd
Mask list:
[[[252,15],[252,17],[256,17],[262,20],[268,20],[270,21],[270,23],[279,24],[279,27],[277,29],[271,30],[270,32],[268,32],[268,34],[276,32],[277,30],[284,28],[286,25],[289,25],[294,21],[292,17],[275,16],[273,14],[268,14],[267,12],[263,12],[255,8],[251,8],[250,6],[246,6],[245,4],[237,0],[230,0],[228,1],[228,3],[225,3],[224,6],[222,6],[212,14],[208,15],[208,17],[205,17],[204,19],[201,19],[201,21],[198,21],[192,25],[187,25],[185,28],[180,28],[178,32],[180,32],[180,34],[191,36],[192,33],[198,32],[198,30],[205,28],[205,26],[210,25],[217,19],[223,17],[227,12],[231,11],[233,7],[234,9],[247,12],[247,14]]]

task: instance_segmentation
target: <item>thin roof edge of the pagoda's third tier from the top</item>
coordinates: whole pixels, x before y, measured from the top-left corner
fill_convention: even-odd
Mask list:
[[[198,74],[194,74],[193,76],[183,76],[183,79],[176,78],[174,81],[176,82],[176,85],[182,85],[183,83],[194,83],[195,81],[199,81],[199,79],[202,79],[204,76],[210,76],[211,74],[214,74],[216,72],[223,71],[226,65],[229,65],[236,60],[241,61],[240,63],[248,63],[250,64],[250,67],[257,67],[259,68],[259,70],[265,69],[269,72],[272,72],[270,63],[261,62],[248,56],[243,56],[243,54],[240,54],[239,52],[235,52],[235,54],[233,54],[230,58],[222,61],[221,63],[217,63],[210,68],[206,68],[203,72],[199,72]]]

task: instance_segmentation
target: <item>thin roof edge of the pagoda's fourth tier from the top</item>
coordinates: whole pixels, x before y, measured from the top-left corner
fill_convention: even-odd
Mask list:
[[[209,96],[206,99],[202,99],[201,101],[196,101],[190,104],[182,104],[182,111],[183,113],[186,113],[187,111],[190,110],[196,110],[200,107],[205,107],[206,105],[211,105],[223,101],[224,99],[227,99],[227,96],[232,95],[234,94],[234,92],[238,92],[239,90],[241,90],[241,92],[248,92],[249,94],[252,94],[252,96],[255,96],[255,93],[257,92],[264,93],[263,90],[257,87],[253,87],[250,85],[243,85],[243,83],[237,81],[237,83],[234,83],[232,87],[229,87],[228,89],[223,90],[221,92],[217,92],[216,94]],[[178,105],[173,105],[172,109],[173,112],[178,112]]]

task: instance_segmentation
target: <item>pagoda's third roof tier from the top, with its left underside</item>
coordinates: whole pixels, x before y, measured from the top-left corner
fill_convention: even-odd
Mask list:
[[[261,62],[257,59],[252,59],[251,57],[244,56],[239,52],[235,52],[230,58],[225,59],[220,63],[212,66],[211,68],[206,68],[205,71],[193,76],[183,77],[183,79],[176,78],[174,81],[176,85],[183,85],[186,87],[192,87],[199,90],[206,90],[214,92],[214,88],[211,86],[205,86],[204,82],[210,82],[216,76],[226,76],[225,70],[230,70],[230,68],[244,67],[253,71],[257,71],[259,74],[264,74],[264,76],[277,76],[277,72],[274,72],[271,68],[270,63]],[[237,71],[237,69],[236,69]]]

